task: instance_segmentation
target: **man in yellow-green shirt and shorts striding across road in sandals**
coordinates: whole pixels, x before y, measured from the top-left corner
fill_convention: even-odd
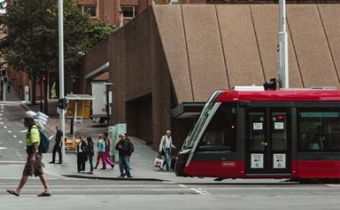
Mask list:
[[[16,190],[7,190],[7,192],[19,197],[21,189],[24,187],[25,183],[27,183],[28,176],[35,175],[39,176],[44,188],[44,191],[38,196],[50,196],[50,188],[42,173],[42,153],[38,150],[38,145],[40,144],[39,129],[35,125],[35,120],[32,117],[25,117],[23,121],[27,128],[27,161],[18,188]]]

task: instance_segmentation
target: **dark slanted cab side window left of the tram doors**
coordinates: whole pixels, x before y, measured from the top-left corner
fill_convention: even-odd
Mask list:
[[[199,151],[236,152],[236,109],[220,105],[198,144]]]

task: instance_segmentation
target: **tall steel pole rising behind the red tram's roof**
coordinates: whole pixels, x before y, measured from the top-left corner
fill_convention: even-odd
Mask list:
[[[280,88],[288,89],[289,68],[288,68],[288,36],[286,31],[286,0],[280,0],[279,4],[279,46],[280,46]]]

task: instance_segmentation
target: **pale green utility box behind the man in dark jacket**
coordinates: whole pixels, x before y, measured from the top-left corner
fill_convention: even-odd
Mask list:
[[[120,141],[120,134],[127,133],[127,123],[119,123],[114,126],[108,127],[108,133],[110,138],[110,143],[112,145],[111,155],[114,161],[118,161],[118,151],[114,148],[118,141]]]

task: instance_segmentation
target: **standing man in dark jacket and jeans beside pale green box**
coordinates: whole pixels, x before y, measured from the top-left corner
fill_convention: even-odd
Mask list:
[[[128,175],[128,178],[132,178],[130,174],[130,168],[128,167],[128,154],[129,154],[128,140],[124,134],[120,135],[120,141],[116,144],[115,149],[118,150],[120,157],[120,176],[124,177]],[[124,174],[124,170],[126,174]]]

